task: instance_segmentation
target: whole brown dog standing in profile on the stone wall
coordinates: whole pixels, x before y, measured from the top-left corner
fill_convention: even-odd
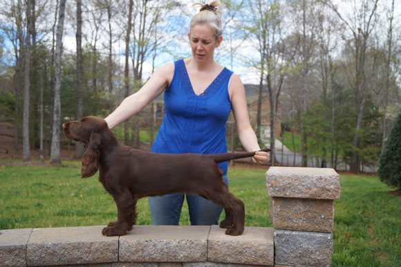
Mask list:
[[[118,221],[102,230],[106,236],[124,235],[136,221],[136,201],[144,196],[171,193],[198,194],[225,210],[220,227],[226,234],[244,230],[243,202],[228,191],[216,163],[254,156],[249,153],[156,154],[120,145],[102,118],[84,117],[63,125],[67,138],[86,145],[82,158],[82,178],[99,169],[99,181],[113,196]],[[270,151],[263,149],[262,151]]]

